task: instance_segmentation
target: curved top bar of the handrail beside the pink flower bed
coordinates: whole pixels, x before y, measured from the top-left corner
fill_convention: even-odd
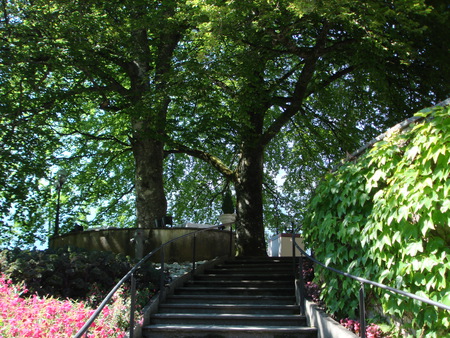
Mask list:
[[[174,239],[171,239],[170,241],[165,242],[164,244],[160,245],[159,247],[157,247],[156,249],[152,250],[151,252],[149,252],[147,255],[145,255],[139,262],[137,262],[133,268],[130,269],[130,271],[128,271],[128,273],[122,277],[122,279],[117,282],[117,284],[111,289],[111,291],[105,296],[105,298],[103,299],[103,301],[100,303],[100,305],[98,306],[98,308],[92,313],[92,315],[89,317],[89,319],[86,321],[86,323],[84,323],[83,327],[81,327],[78,332],[73,336],[73,338],[81,338],[86,332],[87,330],[90,328],[90,326],[94,323],[94,321],[97,319],[97,317],[100,315],[100,313],[103,311],[103,308],[108,304],[108,302],[112,299],[112,297],[114,296],[114,294],[116,293],[116,291],[122,286],[123,283],[125,283],[128,279],[132,278],[134,273],[141,267],[142,264],[144,264],[150,257],[152,257],[154,254],[156,254],[158,251],[162,250],[165,246],[180,240],[182,238],[185,237],[190,237],[190,236],[194,236],[197,235],[200,232],[203,231],[209,231],[212,229],[219,229],[222,227],[227,227],[230,226],[230,237],[232,236],[232,228],[231,225],[234,222],[230,222],[230,223],[223,223],[223,224],[219,224],[219,225],[213,225],[211,227],[208,228],[202,228],[181,236],[178,236]],[[231,244],[230,244],[231,247]],[[195,264],[195,261],[193,262],[193,264]],[[164,273],[163,267],[161,266],[161,273]],[[160,289],[160,292],[162,292],[162,290]],[[134,311],[133,309],[131,311]],[[130,324],[133,325],[133,324]],[[132,328],[130,328],[132,330]]]

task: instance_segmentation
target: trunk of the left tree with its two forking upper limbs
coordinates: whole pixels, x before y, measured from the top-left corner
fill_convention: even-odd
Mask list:
[[[163,10],[167,26],[162,29],[157,42],[154,69],[154,93],[149,85],[151,60],[147,31],[134,32],[136,60],[130,64],[132,100],[137,114],[131,115],[133,125],[132,149],[135,160],[136,223],[138,228],[152,228],[155,220],[161,220],[167,213],[167,199],[164,192],[164,140],[167,110],[170,97],[168,74],[171,70],[173,53],[181,39],[180,27],[170,27],[176,3],[167,2]],[[151,93],[146,95],[146,93]],[[149,105],[146,100],[152,97]],[[141,109],[140,109],[141,108]],[[147,113],[145,113],[147,112]]]

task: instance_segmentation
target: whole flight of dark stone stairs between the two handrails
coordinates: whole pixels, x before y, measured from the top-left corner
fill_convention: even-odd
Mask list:
[[[143,337],[317,337],[295,300],[292,258],[237,258],[168,295]]]

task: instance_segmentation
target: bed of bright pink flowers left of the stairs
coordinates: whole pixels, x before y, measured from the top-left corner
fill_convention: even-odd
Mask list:
[[[32,295],[25,285],[0,276],[0,337],[66,338],[73,336],[94,312],[85,302]],[[120,294],[106,306],[89,330],[90,338],[122,338],[126,306]]]

